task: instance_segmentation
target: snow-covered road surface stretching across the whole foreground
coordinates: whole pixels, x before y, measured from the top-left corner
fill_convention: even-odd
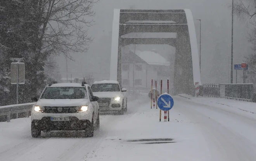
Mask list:
[[[256,161],[256,114],[215,99],[175,96],[170,122],[159,122],[145,95],[128,102],[125,115],[101,115],[93,138],[50,132],[34,139],[30,119],[1,122],[0,161]]]

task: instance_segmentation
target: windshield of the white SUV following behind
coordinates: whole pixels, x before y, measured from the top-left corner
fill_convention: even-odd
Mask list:
[[[93,84],[92,92],[119,92],[120,88],[117,83]]]

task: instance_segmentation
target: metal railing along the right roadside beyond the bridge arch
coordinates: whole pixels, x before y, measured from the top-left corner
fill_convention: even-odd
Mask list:
[[[199,95],[204,97],[223,97],[228,99],[254,101],[253,83],[241,84],[203,84]]]

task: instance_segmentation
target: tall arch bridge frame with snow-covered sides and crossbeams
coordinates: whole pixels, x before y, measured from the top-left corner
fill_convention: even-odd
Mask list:
[[[126,37],[129,33],[176,33],[176,37]],[[110,79],[121,82],[121,47],[168,44],[176,47],[172,94],[195,94],[201,85],[199,54],[192,13],[184,10],[114,9]]]

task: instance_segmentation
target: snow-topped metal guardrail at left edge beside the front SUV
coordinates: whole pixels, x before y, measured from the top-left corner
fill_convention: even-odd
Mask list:
[[[0,106],[0,122],[10,122],[11,119],[29,117],[34,104],[35,102]]]

